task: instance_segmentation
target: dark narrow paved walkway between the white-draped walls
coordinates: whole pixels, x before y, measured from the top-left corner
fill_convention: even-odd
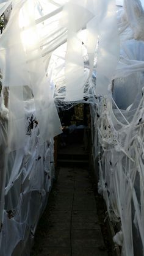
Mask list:
[[[60,167],[31,256],[107,256],[87,169]]]

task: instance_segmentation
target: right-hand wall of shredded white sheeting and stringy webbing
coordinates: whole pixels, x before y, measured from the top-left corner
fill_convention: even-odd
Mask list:
[[[118,10],[120,60],[107,97],[92,106],[93,158],[98,190],[118,233],[121,255],[143,255],[144,12],[140,1]]]

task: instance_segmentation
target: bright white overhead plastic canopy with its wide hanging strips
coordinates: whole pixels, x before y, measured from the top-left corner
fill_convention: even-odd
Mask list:
[[[3,12],[5,4],[3,1],[0,3]],[[112,80],[118,62],[119,47],[114,0],[13,0],[9,1],[10,3],[13,7],[12,14],[1,35],[0,68],[2,85],[10,88],[9,111],[12,122],[9,123],[10,131],[15,131],[11,137],[12,141],[17,141],[17,146],[13,145],[15,148],[24,142],[24,136],[21,136],[24,134],[23,86],[32,89],[43,139],[48,137],[48,134],[55,136],[60,132],[60,123],[54,110],[51,87],[65,87],[64,101],[82,100],[88,96],[85,87],[92,86],[94,69],[97,77],[96,88],[93,88],[95,94],[106,95],[107,86]],[[81,34],[84,29],[86,37],[83,40],[79,33]],[[62,64],[65,67],[64,73],[59,79],[60,83],[56,84],[56,77],[52,77],[54,68],[52,69],[50,60],[52,53],[66,42],[65,62]],[[57,73],[60,73],[63,67],[60,68],[59,58],[57,63]],[[16,109],[19,109],[19,112]],[[53,117],[52,114],[51,118],[50,115],[46,115],[48,112],[53,113]],[[51,126],[50,119],[57,122]],[[46,123],[49,123],[47,130]],[[13,125],[15,129],[12,129]],[[17,139],[18,134],[20,141]]]

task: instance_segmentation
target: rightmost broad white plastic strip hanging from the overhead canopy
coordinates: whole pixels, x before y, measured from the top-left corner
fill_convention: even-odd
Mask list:
[[[107,85],[112,80],[119,58],[120,49],[114,2],[113,0],[100,1],[96,94],[102,96],[107,95]]]

